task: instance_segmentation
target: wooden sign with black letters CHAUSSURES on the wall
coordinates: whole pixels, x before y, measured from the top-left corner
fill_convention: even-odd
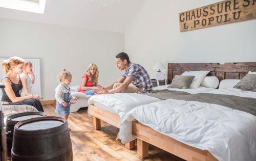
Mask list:
[[[179,14],[180,32],[256,18],[256,0],[229,0]]]

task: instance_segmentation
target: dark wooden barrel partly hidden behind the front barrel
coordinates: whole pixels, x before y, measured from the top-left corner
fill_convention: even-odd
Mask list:
[[[42,117],[46,116],[44,112],[25,112],[25,113],[18,113],[14,115],[10,115],[7,117],[6,120],[6,139],[7,139],[7,154],[11,156],[11,149],[12,149],[12,139],[13,139],[13,130],[16,123],[19,121],[28,120],[31,118]]]

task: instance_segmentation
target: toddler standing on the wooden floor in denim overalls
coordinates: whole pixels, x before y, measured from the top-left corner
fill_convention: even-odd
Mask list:
[[[72,80],[72,74],[63,69],[63,71],[58,76],[58,81],[60,84],[55,89],[55,98],[56,98],[56,114],[62,116],[65,119],[68,119],[70,113],[70,100],[77,98],[72,97],[70,91],[70,83]]]

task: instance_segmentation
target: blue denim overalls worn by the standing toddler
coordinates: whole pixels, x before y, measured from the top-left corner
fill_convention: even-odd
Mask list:
[[[67,89],[67,90],[70,90],[70,89]],[[59,102],[57,102],[56,103],[56,110],[55,110],[55,112],[56,112],[56,114],[58,114],[60,116],[69,116],[69,113],[70,113],[70,94],[69,94],[69,92],[68,93],[64,93],[63,100],[67,103],[68,106],[65,107],[62,104],[60,104]]]

